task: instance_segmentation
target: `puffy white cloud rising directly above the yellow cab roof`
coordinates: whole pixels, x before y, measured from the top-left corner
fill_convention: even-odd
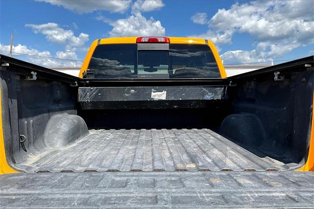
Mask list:
[[[163,36],[165,34],[165,28],[161,26],[160,21],[155,21],[153,17],[147,20],[139,13],[109,24],[113,26],[109,31],[111,37]]]

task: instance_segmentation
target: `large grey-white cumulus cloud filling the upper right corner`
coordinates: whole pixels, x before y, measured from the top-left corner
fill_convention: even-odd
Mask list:
[[[248,32],[260,41],[313,35],[313,1],[253,1],[221,9],[209,25],[218,31]],[[305,34],[304,34],[305,33]],[[313,40],[313,36],[312,36]]]

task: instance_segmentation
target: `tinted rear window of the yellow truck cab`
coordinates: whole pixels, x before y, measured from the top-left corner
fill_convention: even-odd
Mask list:
[[[88,73],[94,78],[221,78],[207,45],[170,44],[168,50],[137,50],[136,44],[100,45]]]

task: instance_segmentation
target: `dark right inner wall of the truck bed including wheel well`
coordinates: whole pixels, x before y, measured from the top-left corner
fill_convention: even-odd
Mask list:
[[[312,68],[285,76],[283,81],[269,77],[237,83],[229,88],[232,105],[220,134],[259,156],[285,163],[306,160],[313,81]]]

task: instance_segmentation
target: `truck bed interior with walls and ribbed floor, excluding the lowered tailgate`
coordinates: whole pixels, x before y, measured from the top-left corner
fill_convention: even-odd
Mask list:
[[[313,57],[207,80],[79,79],[1,62],[4,144],[18,171],[288,171],[308,157]]]

